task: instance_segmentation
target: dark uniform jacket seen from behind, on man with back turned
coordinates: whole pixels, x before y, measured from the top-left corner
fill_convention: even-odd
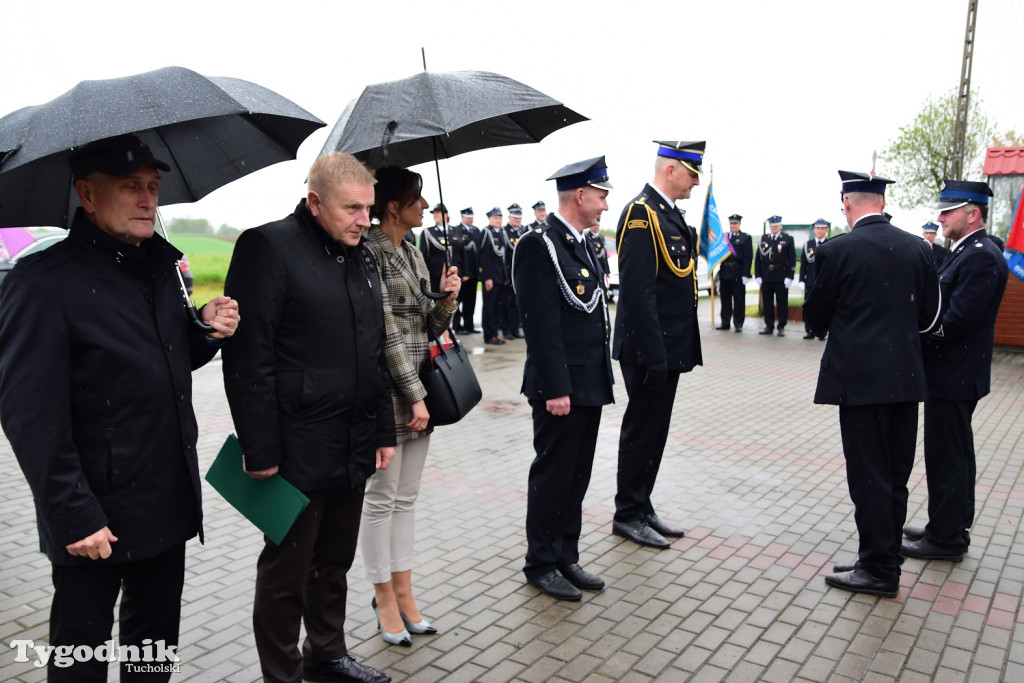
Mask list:
[[[818,247],[804,319],[829,331],[815,403],[877,405],[928,397],[920,334],[936,325],[939,283],[928,243],[882,215]]]

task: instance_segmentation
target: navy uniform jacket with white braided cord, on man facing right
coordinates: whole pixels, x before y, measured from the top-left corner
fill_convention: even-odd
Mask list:
[[[586,249],[554,214],[516,247],[512,279],[526,333],[522,393],[529,399],[569,396],[572,405],[592,407],[613,400],[604,273]]]

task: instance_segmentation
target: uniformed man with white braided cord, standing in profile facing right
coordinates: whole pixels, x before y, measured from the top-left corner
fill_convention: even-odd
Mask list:
[[[607,211],[604,157],[557,171],[558,211],[527,232],[512,280],[526,333],[522,393],[534,412],[526,493],[526,580],[560,600],[604,581],[580,566],[583,499],[597,447],[601,408],[612,401],[604,273],[584,231]]]

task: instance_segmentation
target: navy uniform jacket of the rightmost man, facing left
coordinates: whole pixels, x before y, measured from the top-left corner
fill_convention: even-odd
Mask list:
[[[930,398],[977,400],[988,394],[995,315],[1009,268],[985,230],[972,232],[939,265],[940,327],[924,338]]]

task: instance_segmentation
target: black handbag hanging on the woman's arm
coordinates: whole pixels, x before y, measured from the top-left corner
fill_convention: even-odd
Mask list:
[[[428,325],[429,328],[429,325]],[[431,336],[437,342],[440,352],[430,361],[430,367],[420,375],[427,395],[423,399],[430,413],[430,425],[438,427],[459,422],[473,407],[480,402],[483,392],[476,380],[473,366],[462,343],[456,339],[455,333],[449,328],[452,337],[452,347],[444,348],[439,336]]]

